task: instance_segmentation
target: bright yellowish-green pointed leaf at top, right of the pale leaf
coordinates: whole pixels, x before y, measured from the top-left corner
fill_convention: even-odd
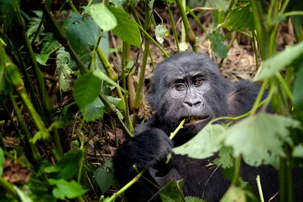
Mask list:
[[[118,23],[112,32],[124,42],[140,48],[140,32],[131,17],[121,8],[110,6],[109,9],[116,16]]]

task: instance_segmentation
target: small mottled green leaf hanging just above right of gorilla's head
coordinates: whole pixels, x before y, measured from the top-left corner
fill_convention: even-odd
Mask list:
[[[227,45],[223,44],[225,37],[221,33],[213,31],[209,38],[212,41],[211,48],[214,50],[215,56],[218,58],[227,58]]]

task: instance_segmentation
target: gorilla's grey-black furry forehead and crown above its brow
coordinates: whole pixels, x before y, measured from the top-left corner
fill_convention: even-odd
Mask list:
[[[219,70],[214,61],[204,55],[195,52],[181,52],[158,64],[155,70],[154,80],[177,76],[180,73],[190,75],[190,72],[205,72],[218,74]]]

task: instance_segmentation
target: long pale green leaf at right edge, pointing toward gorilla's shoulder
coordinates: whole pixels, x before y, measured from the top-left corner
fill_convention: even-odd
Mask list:
[[[301,61],[303,57],[303,41],[278,53],[262,63],[260,72],[255,76],[254,81],[259,81],[274,76],[283,68]]]

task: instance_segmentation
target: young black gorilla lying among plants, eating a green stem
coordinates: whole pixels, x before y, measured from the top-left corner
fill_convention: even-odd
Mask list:
[[[259,89],[256,83],[231,83],[222,78],[217,65],[203,54],[183,52],[161,62],[155,69],[148,97],[149,104],[156,111],[155,115],[135,128],[135,137],[126,141],[113,158],[115,176],[120,186],[137,175],[133,168],[135,164],[139,171],[147,168],[143,175],[155,184],[162,186],[170,178],[184,179],[185,195],[197,196],[208,202],[219,201],[230,182],[221,168],[214,172],[214,169],[206,167],[216,155],[203,160],[173,155],[173,161],[168,165],[165,164],[166,157],[170,148],[191,139],[212,119],[236,117],[248,112],[254,105]],[[184,128],[170,140],[170,133],[184,118],[189,118]],[[243,180],[253,186],[257,195],[256,177],[260,175],[266,201],[279,191],[278,172],[271,166],[255,168],[243,163],[242,173]],[[145,202],[158,190],[141,177],[125,194],[128,201]],[[277,199],[276,196],[272,201]],[[303,201],[301,193],[297,194],[295,200]],[[161,199],[157,195],[152,201]]]

